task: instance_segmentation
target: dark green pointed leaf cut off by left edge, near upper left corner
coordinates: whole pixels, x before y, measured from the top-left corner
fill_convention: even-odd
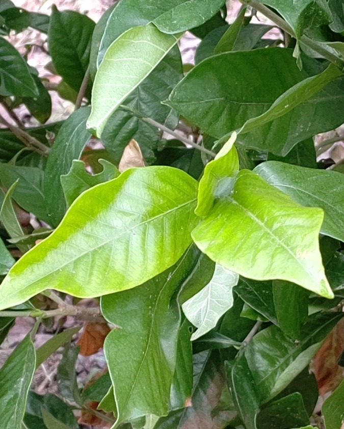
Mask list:
[[[38,96],[28,64],[17,49],[3,37],[0,37],[0,95]]]

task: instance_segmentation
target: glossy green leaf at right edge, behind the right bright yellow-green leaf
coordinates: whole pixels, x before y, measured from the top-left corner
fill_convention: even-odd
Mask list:
[[[277,161],[259,164],[254,171],[299,204],[321,207],[325,213],[321,233],[344,241],[344,201],[338,199],[344,187],[341,173],[285,165]]]

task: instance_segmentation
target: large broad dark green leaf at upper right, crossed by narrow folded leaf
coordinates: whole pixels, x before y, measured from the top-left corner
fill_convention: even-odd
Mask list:
[[[282,72],[279,64],[285,65]],[[312,70],[310,74],[314,73]],[[304,100],[311,94],[312,91],[308,90],[312,89],[312,81],[319,81],[321,87],[336,73],[331,67],[320,77],[308,78],[305,71],[297,68],[289,49],[224,53],[194,67],[174,88],[166,103],[204,133],[217,138],[239,130],[250,118],[263,115],[271,108],[263,116],[270,122],[242,134],[240,142],[246,147],[284,156],[299,141],[336,128],[342,122],[339,99],[344,95],[344,79],[330,83],[297,105],[298,99]],[[269,86],[266,85],[267,81],[270,82]],[[250,82],[249,86],[247,82]],[[298,97],[293,95],[295,91]],[[285,97],[289,103],[283,104]],[[294,108],[285,113],[284,107],[288,104]],[[271,113],[283,113],[283,116],[274,119]],[[254,119],[257,121],[255,124],[258,125],[260,120]],[[292,129],[290,123],[293,123]]]

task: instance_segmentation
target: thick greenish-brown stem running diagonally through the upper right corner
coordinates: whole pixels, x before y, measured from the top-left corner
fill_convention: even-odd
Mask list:
[[[278,16],[275,12],[273,12],[268,7],[262,5],[257,0],[240,0],[240,2],[243,5],[251,6],[256,11],[260,12],[261,14],[265,15],[267,18],[269,18],[271,21],[275,22],[275,24],[284,32],[288,33],[290,36],[296,38],[296,34],[294,33],[294,30],[292,27],[289,26],[287,22],[284,21],[283,18]],[[323,46],[321,46],[318,42],[310,39],[309,37],[303,35],[300,38],[300,42],[304,43],[309,48],[313,49],[313,51],[317,52],[327,60],[329,60],[331,63],[334,63],[337,67],[339,67],[341,70],[344,67],[344,62],[340,60],[336,55],[331,54],[327,51]]]

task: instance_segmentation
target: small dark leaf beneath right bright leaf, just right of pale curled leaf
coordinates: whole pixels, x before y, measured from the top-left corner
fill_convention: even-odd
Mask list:
[[[277,324],[277,316],[272,295],[272,282],[257,282],[240,277],[234,292],[255,311]]]

